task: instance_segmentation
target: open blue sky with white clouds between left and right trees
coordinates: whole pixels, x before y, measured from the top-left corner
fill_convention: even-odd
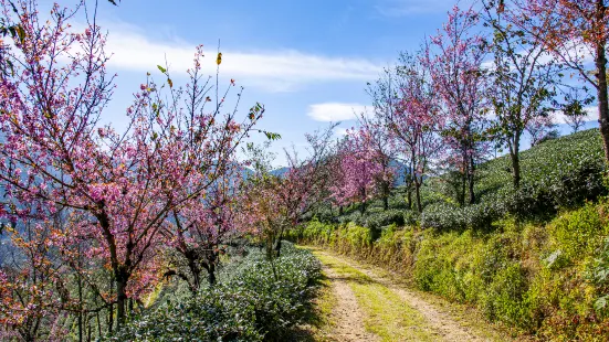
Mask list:
[[[49,3],[49,1],[42,1]],[[61,1],[69,4],[74,0]],[[434,33],[454,0],[99,0],[98,22],[108,34],[108,65],[118,74],[117,90],[104,120],[120,127],[132,94],[146,72],[170,65],[175,83],[195,46],[204,45],[203,68],[216,72],[221,40],[224,84],[245,87],[241,113],[260,101],[266,108],[260,128],[279,132],[276,165],[283,148],[304,145],[304,133],[342,120],[355,125],[353,110],[370,104],[365,88],[400,51],[414,50]],[[82,21],[83,17],[80,17]],[[158,75],[160,81],[160,75]],[[234,94],[233,94],[234,95]]]

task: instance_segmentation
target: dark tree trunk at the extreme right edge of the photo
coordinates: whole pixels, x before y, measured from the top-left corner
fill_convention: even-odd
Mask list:
[[[602,8],[602,0],[598,0]],[[607,41],[602,40],[597,43],[596,66],[598,78],[598,124],[602,136],[602,145],[605,147],[605,161],[609,163],[609,101],[607,98],[607,56],[605,46]]]

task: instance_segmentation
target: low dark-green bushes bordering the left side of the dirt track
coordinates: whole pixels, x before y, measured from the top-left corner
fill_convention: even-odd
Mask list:
[[[109,341],[281,341],[302,319],[321,265],[305,249],[284,242],[281,257],[269,261],[251,249],[229,265],[217,286],[195,297],[169,300],[136,318]]]

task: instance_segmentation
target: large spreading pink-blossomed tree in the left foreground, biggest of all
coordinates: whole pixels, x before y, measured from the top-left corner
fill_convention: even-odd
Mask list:
[[[127,130],[117,132],[99,124],[114,77],[105,70],[105,36],[95,18],[74,33],[73,11],[54,6],[42,22],[34,1],[1,4],[4,25],[23,30],[0,47],[1,70],[10,71],[0,82],[1,214],[20,224],[23,207],[33,204],[50,215],[80,213],[77,227],[95,241],[90,256],[112,269],[119,328],[127,299],[160,276],[156,257],[169,214],[223,174],[264,109],[252,107],[242,122],[237,109],[221,115],[228,90],[222,96],[218,82],[203,81],[199,47],[187,87],[175,87],[159,67],[167,82],[149,77],[140,86],[127,109]],[[231,81],[228,89],[233,86]]]

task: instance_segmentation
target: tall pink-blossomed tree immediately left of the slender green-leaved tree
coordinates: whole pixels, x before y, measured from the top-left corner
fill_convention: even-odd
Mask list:
[[[487,77],[482,65],[489,49],[475,32],[479,23],[480,15],[472,8],[454,7],[442,30],[426,44],[422,60],[442,99],[440,108],[447,118],[442,133],[452,153],[448,160],[462,175],[461,197],[468,188],[469,203],[475,202],[476,164],[487,152]]]

